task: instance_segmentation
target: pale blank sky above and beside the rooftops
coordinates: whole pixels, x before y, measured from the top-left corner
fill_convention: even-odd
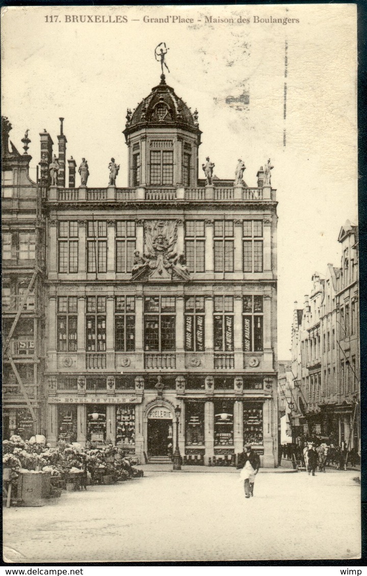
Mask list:
[[[242,158],[248,186],[268,158],[274,165],[278,358],[290,358],[294,301],[302,308],[313,272],[340,266],[339,230],[357,223],[356,13],[346,4],[3,8],[10,139],[22,151],[29,128],[35,179],[39,132],[56,145],[62,116],[67,158],[88,160],[88,185],[107,186],[114,157],[126,186],[126,109],[160,81],[154,48],[164,41],[167,84],[199,111],[199,165],[210,156],[219,178],[233,178]]]

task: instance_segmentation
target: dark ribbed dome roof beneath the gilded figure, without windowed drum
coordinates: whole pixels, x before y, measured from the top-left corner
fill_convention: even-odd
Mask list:
[[[164,74],[161,82],[152,88],[149,96],[143,98],[134,112],[127,113],[125,136],[143,127],[179,127],[183,130],[200,134],[198,112],[192,113],[182,98],[179,98],[173,88],[165,82]]]

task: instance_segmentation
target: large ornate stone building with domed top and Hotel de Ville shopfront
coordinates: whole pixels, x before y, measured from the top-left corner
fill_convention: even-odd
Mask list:
[[[201,179],[198,114],[163,75],[127,113],[127,188],[116,186],[113,160],[106,188],[87,186],[85,161],[75,185],[60,120],[52,180],[53,142],[40,135],[47,441],[112,442],[141,461],[164,461],[175,450],[179,406],[184,463],[230,465],[251,442],[274,467],[270,170],[261,167],[250,188],[241,177],[211,177],[208,159]],[[233,174],[236,163],[227,167]]]

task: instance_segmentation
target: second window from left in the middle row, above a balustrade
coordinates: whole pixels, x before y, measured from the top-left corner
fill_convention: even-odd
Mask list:
[[[86,350],[103,352],[106,349],[106,299],[105,296],[86,298]]]

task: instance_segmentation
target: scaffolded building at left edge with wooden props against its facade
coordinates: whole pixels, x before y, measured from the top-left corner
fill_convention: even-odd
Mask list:
[[[20,154],[2,132],[3,438],[40,432],[44,407],[44,247],[41,199],[29,178],[28,131]],[[10,147],[9,147],[10,143]]]

